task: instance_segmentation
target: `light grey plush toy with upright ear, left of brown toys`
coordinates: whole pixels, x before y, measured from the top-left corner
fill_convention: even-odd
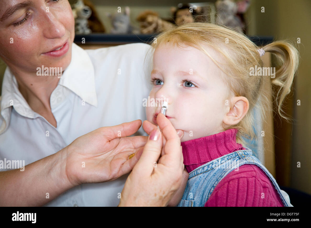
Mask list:
[[[130,7],[125,7],[124,12],[118,12],[114,15],[107,13],[107,16],[111,20],[112,29],[110,33],[112,34],[130,34],[130,33],[138,33],[137,28],[131,25],[130,20]]]

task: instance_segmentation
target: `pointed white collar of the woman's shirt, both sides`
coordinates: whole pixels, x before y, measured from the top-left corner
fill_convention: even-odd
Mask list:
[[[58,81],[58,87],[63,86],[81,97],[82,100],[97,107],[97,95],[95,90],[94,67],[87,52],[72,43],[72,57],[69,66]],[[55,89],[56,90],[56,89]],[[21,92],[12,71],[7,67],[2,82],[2,95],[0,97],[0,134],[4,132],[9,123],[12,108],[17,113],[28,118],[34,118],[35,112],[30,108]]]

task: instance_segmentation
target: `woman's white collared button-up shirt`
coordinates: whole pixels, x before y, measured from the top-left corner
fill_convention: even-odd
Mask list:
[[[143,99],[151,90],[150,65],[144,61],[149,47],[133,43],[83,50],[73,43],[71,63],[50,97],[57,128],[31,110],[7,67],[0,100],[0,160],[25,160],[27,165],[99,127],[144,121]],[[142,127],[135,135],[147,136]],[[117,206],[127,177],[76,186],[46,205]]]

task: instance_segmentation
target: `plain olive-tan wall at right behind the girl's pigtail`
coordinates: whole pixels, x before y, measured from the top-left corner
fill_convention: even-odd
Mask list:
[[[261,13],[261,7],[265,13]],[[311,1],[309,0],[256,0],[246,15],[249,34],[274,35],[276,39],[287,39],[301,43],[296,44],[301,55],[298,76],[294,83],[292,132],[292,157],[290,160],[290,186],[311,194]],[[297,105],[297,100],[301,105]],[[284,122],[282,120],[282,122]],[[297,162],[301,167],[297,167]]]

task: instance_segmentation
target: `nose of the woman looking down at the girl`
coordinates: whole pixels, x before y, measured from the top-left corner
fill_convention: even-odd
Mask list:
[[[46,38],[61,38],[66,34],[65,26],[58,20],[58,17],[53,12],[44,12],[44,20],[42,20],[44,27],[44,36]]]

